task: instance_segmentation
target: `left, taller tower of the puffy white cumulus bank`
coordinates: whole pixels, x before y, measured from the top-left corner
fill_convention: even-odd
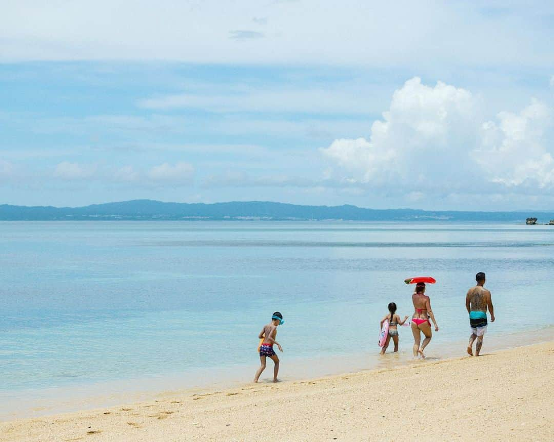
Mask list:
[[[418,77],[395,91],[383,119],[373,122],[370,139],[337,139],[322,152],[361,183],[422,183],[437,174],[437,163],[452,158],[468,141],[474,119],[470,92]]]

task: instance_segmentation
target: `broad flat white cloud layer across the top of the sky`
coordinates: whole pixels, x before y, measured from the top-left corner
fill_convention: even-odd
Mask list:
[[[474,2],[426,0],[159,0],[156,7],[132,0],[76,0],[63,7],[19,0],[2,4],[0,54],[3,60],[552,66],[545,19],[552,3],[502,7],[505,13],[490,14]],[[229,38],[237,29],[265,37]]]

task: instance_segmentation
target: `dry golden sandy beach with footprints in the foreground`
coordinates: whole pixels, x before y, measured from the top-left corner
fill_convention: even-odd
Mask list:
[[[554,342],[0,423],[0,440],[552,440]],[[418,438],[417,436],[420,435]]]

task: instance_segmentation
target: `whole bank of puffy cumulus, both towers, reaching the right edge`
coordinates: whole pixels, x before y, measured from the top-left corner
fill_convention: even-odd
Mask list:
[[[418,77],[393,93],[370,136],[336,139],[322,149],[346,179],[374,187],[454,194],[501,187],[554,185],[547,151],[548,107],[533,101],[520,113],[500,112],[483,122],[480,100],[470,91]]]

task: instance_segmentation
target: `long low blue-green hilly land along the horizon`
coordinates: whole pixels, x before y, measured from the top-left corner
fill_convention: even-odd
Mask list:
[[[554,211],[541,212],[544,219]],[[234,201],[214,204],[133,200],[84,207],[0,205],[2,221],[157,221],[157,220],[344,220],[344,221],[486,221],[521,222],[529,212],[429,211],[365,209],[352,205],[304,206],[270,201]]]

